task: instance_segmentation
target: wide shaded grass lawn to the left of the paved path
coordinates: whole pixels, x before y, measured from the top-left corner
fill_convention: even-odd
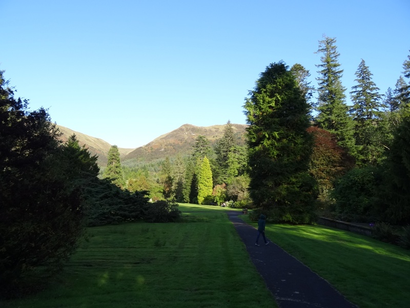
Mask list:
[[[181,223],[89,228],[89,240],[44,291],[0,306],[277,307],[224,213],[228,208],[180,209]]]

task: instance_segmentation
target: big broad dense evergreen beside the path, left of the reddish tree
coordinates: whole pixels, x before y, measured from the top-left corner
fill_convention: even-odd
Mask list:
[[[283,62],[260,74],[245,101],[249,191],[255,206],[277,221],[306,223],[314,217],[315,180],[309,175],[313,138],[306,131],[309,105]]]

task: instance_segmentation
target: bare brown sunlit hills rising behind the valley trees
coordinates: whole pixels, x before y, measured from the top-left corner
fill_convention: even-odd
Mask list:
[[[232,124],[232,128],[237,138],[238,144],[244,143],[244,132],[248,125]],[[99,138],[91,137],[86,134],[73,131],[67,127],[57,125],[58,129],[63,133],[61,140],[64,142],[74,133],[80,145],[86,145],[92,155],[98,156],[98,165],[107,165],[107,155],[111,145]],[[177,153],[182,156],[189,154],[192,151],[192,146],[198,136],[207,137],[211,145],[216,140],[222,138],[225,125],[213,126],[195,126],[191,124],[184,124],[181,127],[162,134],[155,138],[148,144],[134,148],[118,148],[121,162],[128,160],[136,160],[138,162],[150,162],[157,159],[165,159],[174,157]]]

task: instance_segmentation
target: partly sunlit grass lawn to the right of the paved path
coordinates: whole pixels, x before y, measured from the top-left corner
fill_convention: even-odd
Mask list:
[[[410,251],[323,226],[268,223],[265,233],[360,308],[410,307]]]

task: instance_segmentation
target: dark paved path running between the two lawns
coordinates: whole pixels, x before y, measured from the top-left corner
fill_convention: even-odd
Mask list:
[[[354,308],[327,281],[311,269],[283,251],[270,241],[268,245],[259,238],[260,246],[255,245],[257,230],[241,220],[238,212],[229,212],[245,244],[252,262],[265,280],[281,308]]]

